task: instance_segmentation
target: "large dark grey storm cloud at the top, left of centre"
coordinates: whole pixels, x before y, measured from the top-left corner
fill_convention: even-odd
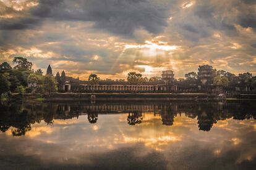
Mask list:
[[[167,2],[147,0],[41,0],[39,6],[33,8],[30,13],[36,17],[54,20],[94,22],[95,28],[132,36],[138,28],[160,33],[167,25],[169,5]]]

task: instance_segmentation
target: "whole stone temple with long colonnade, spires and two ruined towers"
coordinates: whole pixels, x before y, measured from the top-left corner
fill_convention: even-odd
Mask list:
[[[223,92],[222,86],[213,85],[213,76],[216,70],[208,65],[198,68],[198,81],[192,84],[182,84],[174,78],[172,70],[165,70],[161,74],[161,79],[155,81],[143,81],[133,84],[129,81],[107,81],[99,80],[96,84],[90,81],[80,80],[66,76],[63,70],[61,75],[56,73],[56,81],[58,82],[59,92],[121,92],[121,93],[182,93],[182,92],[205,92],[220,93]],[[51,66],[47,68],[46,75],[53,75]],[[247,92],[244,87],[230,87],[229,91]],[[249,91],[248,91],[249,92]]]

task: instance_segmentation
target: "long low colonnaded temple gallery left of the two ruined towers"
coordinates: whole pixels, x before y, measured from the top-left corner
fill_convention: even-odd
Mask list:
[[[169,78],[174,82],[174,78]],[[164,83],[164,81],[142,82],[141,84],[130,84],[128,81],[98,81],[91,84],[89,81],[80,80],[66,76],[62,71],[61,76],[56,74],[58,89],[60,92],[158,92],[158,91],[177,91],[174,84]]]

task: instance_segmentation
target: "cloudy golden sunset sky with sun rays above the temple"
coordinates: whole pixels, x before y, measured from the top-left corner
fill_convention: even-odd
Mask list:
[[[198,65],[256,74],[254,0],[0,0],[0,62],[125,79]]]

